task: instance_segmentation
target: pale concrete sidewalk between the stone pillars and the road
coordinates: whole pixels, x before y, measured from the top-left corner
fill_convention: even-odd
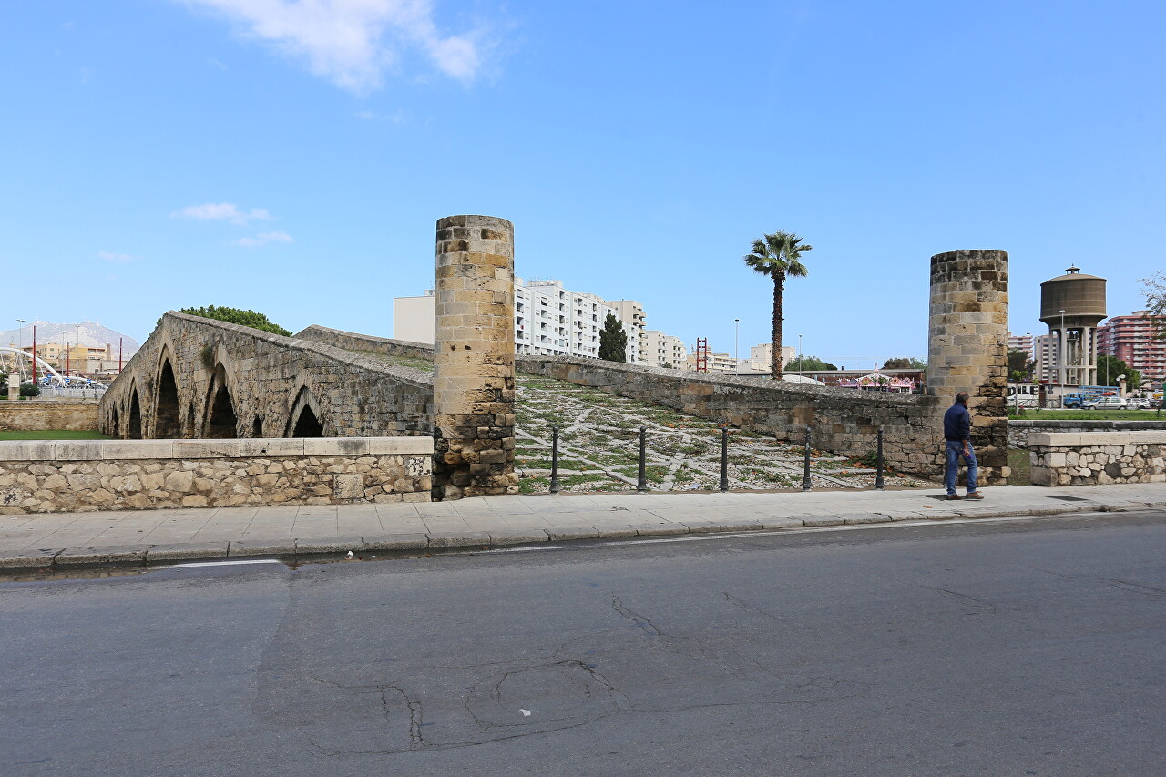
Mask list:
[[[0,516],[0,569],[417,552],[603,537],[737,532],[1166,506],[1166,483],[984,489],[503,496],[441,503]]]

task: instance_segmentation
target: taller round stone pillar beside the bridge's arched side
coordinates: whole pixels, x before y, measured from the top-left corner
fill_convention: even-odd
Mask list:
[[[518,494],[514,225],[438,219],[434,294],[434,498]]]

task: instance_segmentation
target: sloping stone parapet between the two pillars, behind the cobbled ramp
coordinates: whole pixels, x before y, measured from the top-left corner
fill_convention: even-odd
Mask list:
[[[831,386],[778,383],[766,377],[717,376],[574,357],[520,356],[522,372],[591,386],[674,410],[772,434],[850,456],[876,448],[895,469],[939,477],[943,467],[943,413],[949,399]]]

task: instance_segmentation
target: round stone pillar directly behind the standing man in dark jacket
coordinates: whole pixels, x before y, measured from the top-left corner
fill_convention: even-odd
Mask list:
[[[932,257],[927,346],[927,393],[943,398],[968,392],[971,443],[982,485],[1009,477],[1009,254],[951,251]],[[942,426],[936,428],[942,436]]]

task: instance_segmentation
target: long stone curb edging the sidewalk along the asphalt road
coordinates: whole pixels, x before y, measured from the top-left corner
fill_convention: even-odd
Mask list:
[[[77,572],[96,568],[149,568],[184,561],[217,561],[224,559],[319,559],[352,552],[416,554],[428,551],[457,551],[470,547],[505,547],[536,542],[570,542],[578,540],[617,539],[628,537],[674,537],[677,534],[780,532],[829,526],[891,524],[905,520],[951,520],[955,518],[1013,518],[1024,516],[1058,516],[1077,512],[1133,512],[1166,508],[1166,502],[1131,502],[1119,505],[1084,503],[1049,508],[961,508],[951,510],[861,512],[840,516],[806,516],[805,518],[679,520],[655,526],[559,526],[531,531],[499,530],[498,532],[434,532],[399,533],[368,537],[295,538],[288,540],[219,542],[185,542],[167,545],[98,546],[75,548],[37,548],[0,553],[0,574]]]

